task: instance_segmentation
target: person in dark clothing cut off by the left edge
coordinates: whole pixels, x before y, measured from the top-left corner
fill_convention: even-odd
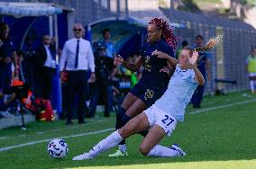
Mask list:
[[[14,71],[17,69],[14,42],[9,37],[9,31],[8,24],[0,24],[0,93],[2,98],[5,94],[12,94],[12,63],[14,63]],[[4,100],[0,101],[0,111],[6,111]]]

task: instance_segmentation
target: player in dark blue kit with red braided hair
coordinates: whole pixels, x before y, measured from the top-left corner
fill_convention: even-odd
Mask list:
[[[159,50],[175,58],[173,49],[177,46],[177,37],[174,36],[168,22],[160,18],[152,19],[147,28],[147,37],[141,56],[134,63],[127,63],[121,56],[114,58],[114,65],[123,65],[131,71],[135,72],[141,66],[143,68],[142,78],[126,95],[116,114],[115,129],[122,128],[129,120],[156,102],[167,89],[169,73],[173,73],[174,67],[171,67],[166,59],[151,55],[153,51]],[[143,132],[142,136],[146,133]],[[124,139],[119,144],[119,150],[109,156],[127,156]]]

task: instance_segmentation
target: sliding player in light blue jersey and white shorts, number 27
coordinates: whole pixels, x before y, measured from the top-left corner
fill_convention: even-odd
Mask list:
[[[115,130],[107,138],[100,141],[88,153],[75,156],[73,160],[95,158],[107,149],[115,147],[123,138],[145,129],[150,129],[143,139],[140,151],[145,156],[185,156],[185,152],[173,144],[172,147],[160,146],[160,140],[166,135],[170,136],[178,121],[184,120],[184,113],[197,85],[204,85],[205,79],[197,69],[196,50],[183,49],[177,59],[169,57],[161,51],[153,51],[152,55],[167,59],[176,70],[169,80],[167,91],[150,108],[123,126]]]

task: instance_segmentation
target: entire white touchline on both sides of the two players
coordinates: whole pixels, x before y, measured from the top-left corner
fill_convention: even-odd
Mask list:
[[[240,104],[250,103],[250,102],[256,102],[256,99],[249,100],[249,101],[242,101],[242,102],[234,102],[234,103],[226,104],[226,105],[223,105],[223,106],[215,106],[215,107],[203,109],[203,110],[200,110],[200,111],[189,112],[187,114],[198,114],[200,112],[205,112],[205,111],[214,111],[214,110],[217,110],[217,109],[223,109],[223,108],[232,107],[232,106],[235,106],[235,105],[240,105]],[[99,131],[93,131],[93,132],[82,133],[82,134],[71,135],[71,136],[65,136],[65,137],[59,137],[59,138],[76,138],[76,137],[82,137],[82,136],[88,136],[88,135],[103,133],[103,132],[110,131],[110,130],[114,130],[114,128],[112,128],[112,129],[103,129],[103,130],[99,130]],[[32,141],[32,142],[24,143],[24,144],[21,144],[21,145],[12,146],[12,147],[2,147],[2,148],[0,148],[0,152],[7,151],[9,149],[14,149],[15,147],[25,147],[25,146],[34,145],[34,144],[37,144],[37,143],[47,142],[47,141],[50,141],[51,139],[54,139],[54,138]]]

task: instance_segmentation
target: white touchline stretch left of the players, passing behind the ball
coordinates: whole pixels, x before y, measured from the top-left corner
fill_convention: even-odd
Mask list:
[[[76,137],[94,135],[94,134],[98,134],[98,133],[104,133],[104,132],[110,131],[110,130],[114,130],[114,128],[103,129],[103,130],[99,130],[99,131],[92,131],[92,132],[87,132],[87,133],[82,133],[82,134],[71,135],[71,136],[58,137],[58,138],[76,138]],[[7,151],[9,149],[14,149],[15,147],[25,147],[25,146],[34,145],[34,144],[37,144],[37,143],[47,142],[47,141],[50,141],[52,139],[54,139],[54,138],[32,141],[32,142],[24,143],[24,144],[21,144],[21,145],[12,146],[12,147],[2,147],[2,148],[0,148],[0,152]]]

